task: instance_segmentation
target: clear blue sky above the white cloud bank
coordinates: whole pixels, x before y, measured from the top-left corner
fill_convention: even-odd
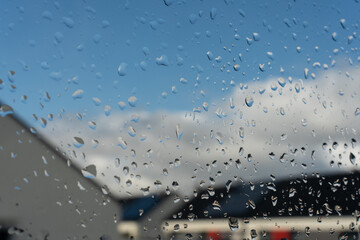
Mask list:
[[[4,1],[1,101],[35,125],[33,113],[56,117],[64,109],[96,116],[103,114],[104,105],[120,111],[117,102],[127,102],[130,96],[138,103],[124,111],[192,111],[204,101],[218,103],[228,96],[231,80],[236,86],[263,81],[280,76],[281,67],[284,77],[304,78],[304,68],[318,71],[314,62],[330,66],[337,58],[357,61],[358,38],[348,44],[348,36],[358,32],[356,1],[172,2],[166,6],[163,0]],[[346,20],[346,29],[341,19]],[[246,38],[253,40],[250,45]],[[156,63],[162,55],[168,66]],[[215,60],[218,56],[221,62]],[[121,63],[127,65],[125,76],[118,74]],[[234,64],[240,65],[239,71]],[[264,72],[259,64],[265,64]],[[15,71],[14,82],[8,80],[9,70]],[[78,80],[69,81],[74,77]],[[182,77],[187,84],[180,83]],[[9,90],[10,84],[16,91]],[[78,89],[84,91],[83,97],[74,100]],[[22,95],[27,95],[26,103],[21,102]],[[102,101],[101,106],[95,106],[93,97]]]

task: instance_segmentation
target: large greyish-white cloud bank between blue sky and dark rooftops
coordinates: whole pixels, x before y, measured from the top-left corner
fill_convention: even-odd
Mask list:
[[[87,122],[92,119],[78,120],[68,116],[55,121],[53,130],[48,127],[43,134],[65,151],[74,150],[76,157],[72,155],[77,165],[95,164],[97,181],[106,184],[112,194],[119,197],[128,197],[127,192],[133,196],[142,195],[140,189],[147,186],[155,191],[156,180],[162,182],[160,191],[166,186],[174,191],[171,184],[177,181],[180,186],[177,192],[190,194],[199,187],[201,180],[205,181],[205,186],[211,185],[210,177],[221,185],[227,180],[234,181],[234,176],[244,181],[268,181],[270,174],[287,178],[301,173],[348,171],[354,168],[349,161],[350,152],[359,156],[359,148],[351,146],[351,139],[357,139],[360,119],[354,114],[360,107],[359,73],[354,69],[349,73],[329,70],[316,80],[303,83],[284,77],[284,87],[277,78],[248,83],[247,89],[236,86],[226,97],[233,99],[234,108],[230,107],[230,100],[219,100],[216,106],[209,106],[208,112],[137,112],[138,122],[131,121],[133,113],[114,112],[110,116],[101,113],[95,120],[96,130],[88,126]],[[275,91],[271,90],[274,86],[277,87]],[[299,93],[295,89],[297,86]],[[259,93],[261,88],[265,89],[263,94]],[[254,100],[252,107],[245,104],[247,96]],[[215,112],[222,114],[222,118]],[[243,137],[239,135],[240,128]],[[178,135],[182,132],[181,140],[177,131]],[[58,136],[56,139],[50,137],[54,133]],[[132,137],[134,134],[136,136]],[[83,147],[67,146],[75,136],[84,139]],[[119,142],[119,137],[124,142]],[[99,141],[96,148],[92,148],[92,139]],[[330,153],[334,141],[339,146]],[[127,146],[123,149],[125,142]],[[328,144],[326,150],[323,143]],[[241,147],[242,155],[239,154]],[[274,160],[269,157],[271,152]],[[250,161],[248,154],[252,156]],[[116,158],[120,159],[119,166]],[[180,165],[174,163],[176,158],[180,159]],[[240,169],[236,167],[237,159],[241,161]],[[216,164],[212,164],[215,160]],[[333,167],[330,166],[332,160]],[[133,162],[137,164],[136,169]],[[338,167],[339,162],[341,167]],[[126,166],[130,169],[128,175],[123,172]],[[163,174],[164,168],[168,176]],[[114,176],[120,177],[120,184]],[[131,187],[126,186],[129,179]]]

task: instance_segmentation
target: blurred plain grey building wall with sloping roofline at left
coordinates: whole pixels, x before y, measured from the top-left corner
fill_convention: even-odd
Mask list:
[[[114,216],[120,213],[118,203],[68,167],[60,152],[13,116],[0,117],[0,224],[25,230],[16,239],[29,234],[31,239],[99,239],[104,234],[118,239]]]

